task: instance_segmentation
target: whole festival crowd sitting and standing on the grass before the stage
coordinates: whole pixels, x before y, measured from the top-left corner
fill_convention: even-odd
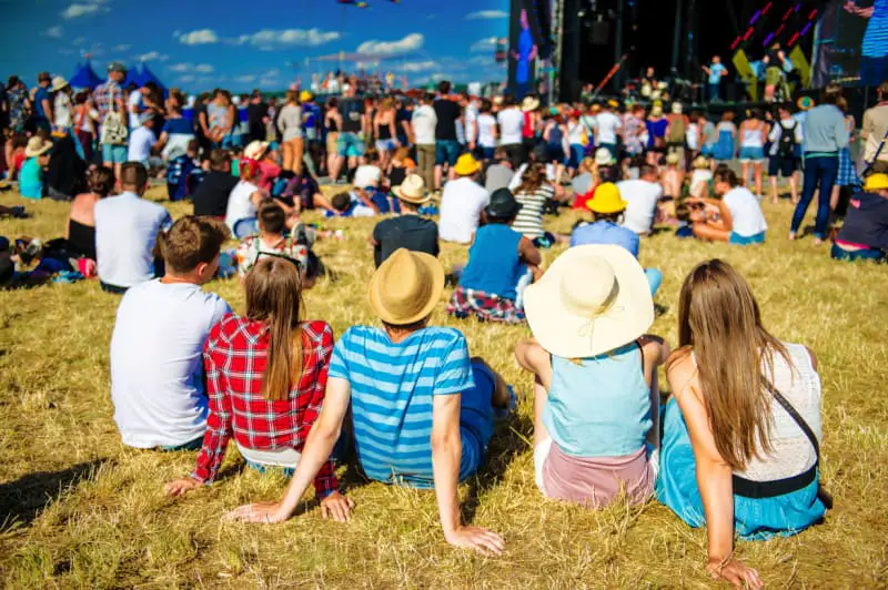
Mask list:
[[[462,521],[457,485],[484,468],[517,394],[460,329],[432,324],[450,281],[454,318],[526,323],[533,334],[513,345],[534,377],[543,497],[589,508],[656,498],[707,527],[710,574],[754,588],[758,573],[733,557],[735,532],[795,535],[831,506],[819,485],[814,353],[771,335],[746,279],[718,260],[685,278],[673,349],[648,334],[663,273],[637,257],[655,226],[765,242],[766,160],[797,201],[790,237],[819,192],[815,238],[827,240],[855,126],[840,87],[819,105],[780,103],[737,125],[728,114],[717,124],[687,115],[680,103],[668,114],[609,101],[542,108],[533,96],[453,95],[442,82],[414,104],[345,84],[323,108],[310,92],[292,90],[276,108],[254,92],[235,132],[225,91],[185,123],[180,94],[128,95],[124,73],[111,64],[91,98],[72,101],[95,123],[87,142],[82,126],[59,119],[63,80],[41,74],[34,102],[22,103],[34,116],[10,119],[7,162],[21,195],[70,200],[71,213],[63,238],[0,243],[0,277],[98,275],[122,295],[110,355],[122,441],[199,451],[194,469],[167,484],[170,496],[213,484],[233,440],[251,468],[292,478],[280,501],[228,518],[286,520],[313,485],[322,513],[347,520],[354,503],[336,466],[352,462],[370,479],[434,488],[448,542],[501,553],[497,533]],[[888,83],[880,90],[864,120],[865,177],[851,166],[848,184],[838,182],[849,197],[835,258],[888,251]],[[739,174],[728,165],[737,157]],[[191,200],[193,215],[173,222],[143,199],[152,179],[170,200]],[[320,189],[341,180],[352,189]],[[771,190],[777,200],[776,181]],[[572,232],[547,231],[546,216],[565,207],[582,212]],[[369,236],[379,325],[335,338],[327,322],[305,319],[302,294],[325,272],[312,246],[333,237],[305,224],[306,210],[380,217]],[[226,251],[231,237],[238,246]],[[465,264],[445,271],[442,242],[464,245]],[[567,250],[546,267],[541,251],[555,244]],[[233,274],[242,314],[202,288]]]

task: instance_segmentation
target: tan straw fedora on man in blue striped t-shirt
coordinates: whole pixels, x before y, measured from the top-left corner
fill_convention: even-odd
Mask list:
[[[405,326],[428,317],[443,292],[444,267],[437,258],[398,248],[370,279],[370,306],[386,324]]]

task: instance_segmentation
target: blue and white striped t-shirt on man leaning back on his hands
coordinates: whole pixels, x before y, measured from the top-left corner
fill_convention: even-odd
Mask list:
[[[333,348],[330,377],[351,384],[355,447],[366,476],[433,487],[433,398],[474,387],[465,337],[427,327],[393,344],[380,328],[354,326]],[[478,465],[474,447],[464,445],[461,479]]]

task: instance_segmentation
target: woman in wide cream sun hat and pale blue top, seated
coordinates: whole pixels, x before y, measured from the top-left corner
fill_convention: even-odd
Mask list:
[[[635,257],[577,246],[525,291],[534,338],[515,348],[534,374],[534,466],[547,498],[598,508],[654,494],[657,367],[669,347],[645,332],[654,302]]]

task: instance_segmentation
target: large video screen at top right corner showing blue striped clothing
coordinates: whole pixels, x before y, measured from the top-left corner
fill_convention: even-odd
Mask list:
[[[888,79],[888,0],[834,0],[815,40],[813,84],[875,87]]]

